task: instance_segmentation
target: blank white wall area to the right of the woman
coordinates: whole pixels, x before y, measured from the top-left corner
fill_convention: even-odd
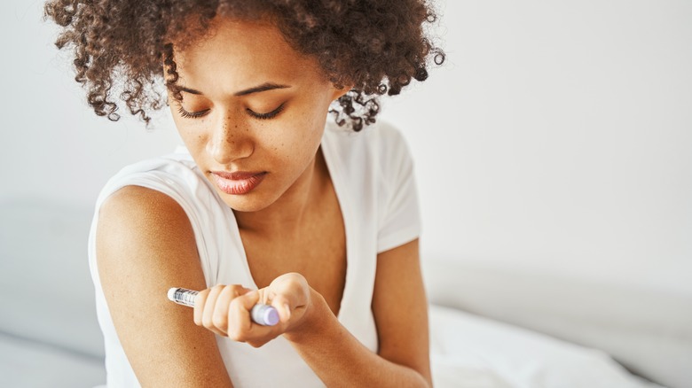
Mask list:
[[[692,292],[692,2],[459,1],[385,116],[424,251]]]

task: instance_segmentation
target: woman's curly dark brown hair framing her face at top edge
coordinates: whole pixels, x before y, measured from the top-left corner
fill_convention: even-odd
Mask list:
[[[425,0],[51,0],[44,11],[63,27],[58,48],[74,48],[75,80],[89,105],[110,120],[120,119],[115,89],[147,124],[147,111],[167,101],[161,81],[182,98],[172,42],[180,49],[199,39],[216,15],[271,19],[295,50],[317,58],[329,81],[353,85],[330,113],[356,131],[374,123],[378,96],[426,80],[430,60],[444,61],[425,31],[436,20]]]

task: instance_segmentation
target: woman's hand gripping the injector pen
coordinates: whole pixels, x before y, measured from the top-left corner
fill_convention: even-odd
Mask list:
[[[263,326],[252,322],[250,310],[257,303],[276,308],[279,323]],[[195,299],[194,323],[219,336],[259,347],[300,327],[310,306],[308,282],[303,275],[289,273],[256,291],[238,284],[216,285],[200,291]]]

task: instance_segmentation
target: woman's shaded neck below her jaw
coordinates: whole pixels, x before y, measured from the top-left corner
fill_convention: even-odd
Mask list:
[[[233,211],[239,229],[261,237],[293,237],[318,204],[328,174],[319,149],[305,173],[271,206],[257,212]]]

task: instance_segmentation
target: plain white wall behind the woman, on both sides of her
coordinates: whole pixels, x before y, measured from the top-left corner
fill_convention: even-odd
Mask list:
[[[417,160],[427,257],[692,293],[692,3],[440,3],[447,53],[384,105]],[[40,21],[2,5],[0,199],[91,206],[170,151],[83,103]]]

